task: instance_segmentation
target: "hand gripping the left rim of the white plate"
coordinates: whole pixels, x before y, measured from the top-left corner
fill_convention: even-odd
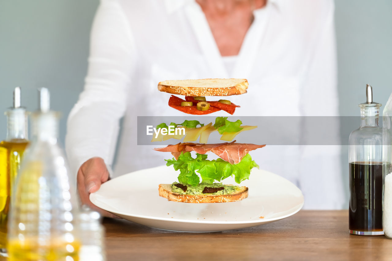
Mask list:
[[[101,187],[101,184],[109,179],[109,171],[102,158],[90,158],[84,162],[79,168],[76,179],[82,205],[89,206],[92,210],[100,212],[103,216],[118,218],[118,216],[114,216],[113,214],[100,209],[91,203],[89,199],[90,193],[97,191]]]

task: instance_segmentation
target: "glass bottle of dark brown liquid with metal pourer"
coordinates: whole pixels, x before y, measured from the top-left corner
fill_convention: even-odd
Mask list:
[[[366,103],[361,109],[361,125],[349,138],[350,234],[383,235],[382,226],[382,129],[379,127],[381,104],[373,102],[372,86],[366,86]]]

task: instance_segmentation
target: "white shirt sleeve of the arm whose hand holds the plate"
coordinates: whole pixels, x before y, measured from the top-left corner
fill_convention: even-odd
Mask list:
[[[65,150],[72,173],[92,157],[111,165],[127,88],[136,63],[133,36],[122,7],[102,0],[90,36],[88,72],[83,92],[67,121]]]

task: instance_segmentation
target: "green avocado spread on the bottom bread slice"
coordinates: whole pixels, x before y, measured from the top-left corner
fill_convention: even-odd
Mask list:
[[[183,191],[180,187],[177,187],[176,184],[180,184],[178,182],[174,182],[171,187],[172,187],[172,192],[173,193],[178,193],[178,194],[185,194],[185,195],[201,195],[201,194],[208,194],[208,195],[227,195],[227,194],[232,194],[235,193],[236,191],[239,191],[241,188],[238,186],[232,186],[232,185],[223,185],[222,183],[200,183],[196,186],[190,186],[187,185],[187,191]],[[214,188],[221,188],[223,189],[216,191],[214,193],[202,193],[202,191],[205,189],[205,187],[214,187]]]

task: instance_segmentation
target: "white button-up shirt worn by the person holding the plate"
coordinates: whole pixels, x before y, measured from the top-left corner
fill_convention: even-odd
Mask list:
[[[85,88],[68,119],[73,173],[91,157],[112,164],[122,117],[114,176],[163,165],[171,155],[137,146],[136,118],[183,116],[157,90],[167,79],[248,79],[248,93],[230,97],[241,105],[234,116],[338,115],[333,13],[332,0],[269,0],[254,11],[238,56],[227,59],[194,0],[101,0]],[[298,185],[305,208],[333,209],[344,202],[339,151],[267,146],[251,155]]]

